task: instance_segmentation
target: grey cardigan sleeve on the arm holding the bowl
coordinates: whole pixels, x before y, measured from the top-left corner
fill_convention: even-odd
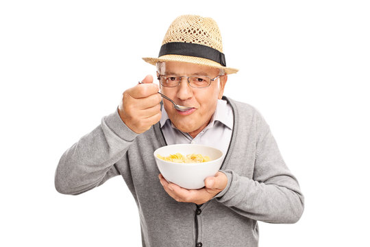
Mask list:
[[[227,187],[216,200],[236,213],[270,223],[295,223],[304,211],[304,196],[271,134],[260,118],[253,178],[225,169]]]

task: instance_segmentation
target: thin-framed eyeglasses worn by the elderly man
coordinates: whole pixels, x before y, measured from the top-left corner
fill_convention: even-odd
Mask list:
[[[215,78],[210,78],[206,75],[194,75],[194,76],[179,76],[179,75],[158,75],[158,80],[162,86],[175,87],[180,85],[182,78],[188,78],[189,86],[197,89],[205,88],[210,86],[211,82],[221,77],[218,75]]]

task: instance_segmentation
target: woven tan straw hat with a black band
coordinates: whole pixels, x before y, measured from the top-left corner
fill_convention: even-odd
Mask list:
[[[190,62],[219,69],[225,73],[238,72],[226,67],[219,26],[208,17],[179,16],[171,23],[164,36],[158,58],[143,58],[145,62]]]

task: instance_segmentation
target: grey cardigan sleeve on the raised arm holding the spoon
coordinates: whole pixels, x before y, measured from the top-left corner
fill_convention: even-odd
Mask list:
[[[95,130],[62,154],[55,174],[56,190],[77,195],[119,175],[114,164],[125,156],[137,135],[125,126],[117,110],[103,117]]]

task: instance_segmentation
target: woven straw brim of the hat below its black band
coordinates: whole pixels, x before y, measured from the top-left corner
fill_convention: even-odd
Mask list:
[[[230,75],[232,73],[236,73],[239,71],[238,69],[233,69],[230,67],[223,67],[218,62],[214,62],[206,58],[198,58],[198,57],[193,57],[193,56],[164,55],[164,56],[160,56],[159,58],[143,58],[143,60],[153,65],[156,65],[157,62],[190,62],[192,64],[206,65],[206,66],[217,68],[217,69],[224,69],[227,75]]]

